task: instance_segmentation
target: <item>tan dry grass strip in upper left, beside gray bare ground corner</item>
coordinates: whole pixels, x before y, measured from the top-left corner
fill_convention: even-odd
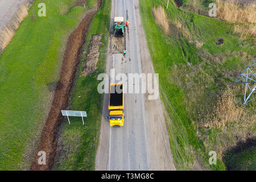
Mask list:
[[[15,35],[15,31],[19,27],[20,22],[22,22],[22,20],[28,15],[27,10],[27,6],[20,5],[11,22],[0,32],[0,51],[5,49],[5,47],[10,43],[11,39]]]

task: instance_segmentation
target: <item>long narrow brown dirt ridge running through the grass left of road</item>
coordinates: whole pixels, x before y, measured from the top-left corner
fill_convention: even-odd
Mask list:
[[[101,6],[98,0],[97,10]],[[54,156],[56,154],[56,130],[61,122],[61,109],[67,107],[69,94],[72,89],[75,78],[76,68],[80,60],[81,48],[85,42],[86,31],[88,30],[90,21],[97,10],[90,11],[79,24],[79,27],[68,38],[68,44],[64,53],[64,60],[61,68],[60,80],[57,83],[55,95],[53,98],[51,110],[46,121],[46,125],[42,131],[41,140],[38,150],[31,164],[31,170],[50,170],[53,166]],[[38,164],[38,152],[46,152],[46,165]]]

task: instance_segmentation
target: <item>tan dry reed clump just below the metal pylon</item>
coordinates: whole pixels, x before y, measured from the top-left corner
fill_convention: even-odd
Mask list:
[[[234,99],[235,96],[231,89],[228,88],[222,92],[221,96],[217,98],[213,113],[202,119],[201,127],[224,130],[229,123],[236,123],[236,125],[243,127],[248,122],[255,123],[256,115],[247,113],[247,110],[242,106],[237,106]]]

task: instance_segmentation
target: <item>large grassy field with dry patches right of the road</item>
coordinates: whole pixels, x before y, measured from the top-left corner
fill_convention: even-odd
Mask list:
[[[163,7],[168,34],[152,16]],[[255,43],[233,33],[233,24],[175,6],[140,1],[147,45],[159,73],[170,144],[177,169],[225,170],[222,155],[247,135],[255,135],[255,101],[242,105],[243,90],[232,82],[256,55]],[[217,44],[220,39],[223,44]],[[237,114],[239,111],[239,115]],[[217,164],[208,164],[208,152]]]

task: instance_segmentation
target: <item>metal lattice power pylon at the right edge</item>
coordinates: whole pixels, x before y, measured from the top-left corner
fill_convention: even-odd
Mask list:
[[[245,84],[245,96],[243,98],[243,104],[253,100],[255,97],[250,98],[253,93],[256,93],[256,57],[245,68],[240,76],[234,81],[234,84]]]

